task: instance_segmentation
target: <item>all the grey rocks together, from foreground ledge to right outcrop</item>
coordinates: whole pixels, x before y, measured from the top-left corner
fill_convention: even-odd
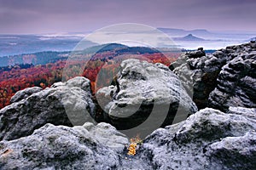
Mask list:
[[[96,94],[102,115],[84,77],[20,91],[0,111],[0,169],[256,169],[255,51],[250,42],[189,52],[170,66],[178,76],[125,60],[113,85]],[[185,89],[200,108],[221,111],[197,111]],[[173,122],[127,155],[125,134],[143,138]]]

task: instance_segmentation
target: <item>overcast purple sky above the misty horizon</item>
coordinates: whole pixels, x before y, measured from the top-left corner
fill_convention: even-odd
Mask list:
[[[256,31],[255,17],[255,0],[0,0],[0,33],[84,32],[124,22]]]

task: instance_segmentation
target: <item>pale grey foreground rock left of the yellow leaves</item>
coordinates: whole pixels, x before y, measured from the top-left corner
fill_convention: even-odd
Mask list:
[[[116,169],[126,144],[107,123],[46,124],[30,136],[0,142],[0,169]]]

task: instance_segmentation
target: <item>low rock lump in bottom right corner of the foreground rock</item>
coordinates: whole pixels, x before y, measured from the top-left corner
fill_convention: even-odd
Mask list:
[[[212,161],[212,167],[219,169],[255,169],[256,133],[248,132],[243,136],[227,137],[209,144],[206,156]]]

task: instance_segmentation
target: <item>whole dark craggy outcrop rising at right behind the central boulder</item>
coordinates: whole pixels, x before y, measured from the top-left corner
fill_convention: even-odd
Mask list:
[[[169,68],[182,80],[199,109],[210,106],[227,111],[228,106],[255,107],[255,53],[255,42],[209,55],[198,49],[182,54]]]

